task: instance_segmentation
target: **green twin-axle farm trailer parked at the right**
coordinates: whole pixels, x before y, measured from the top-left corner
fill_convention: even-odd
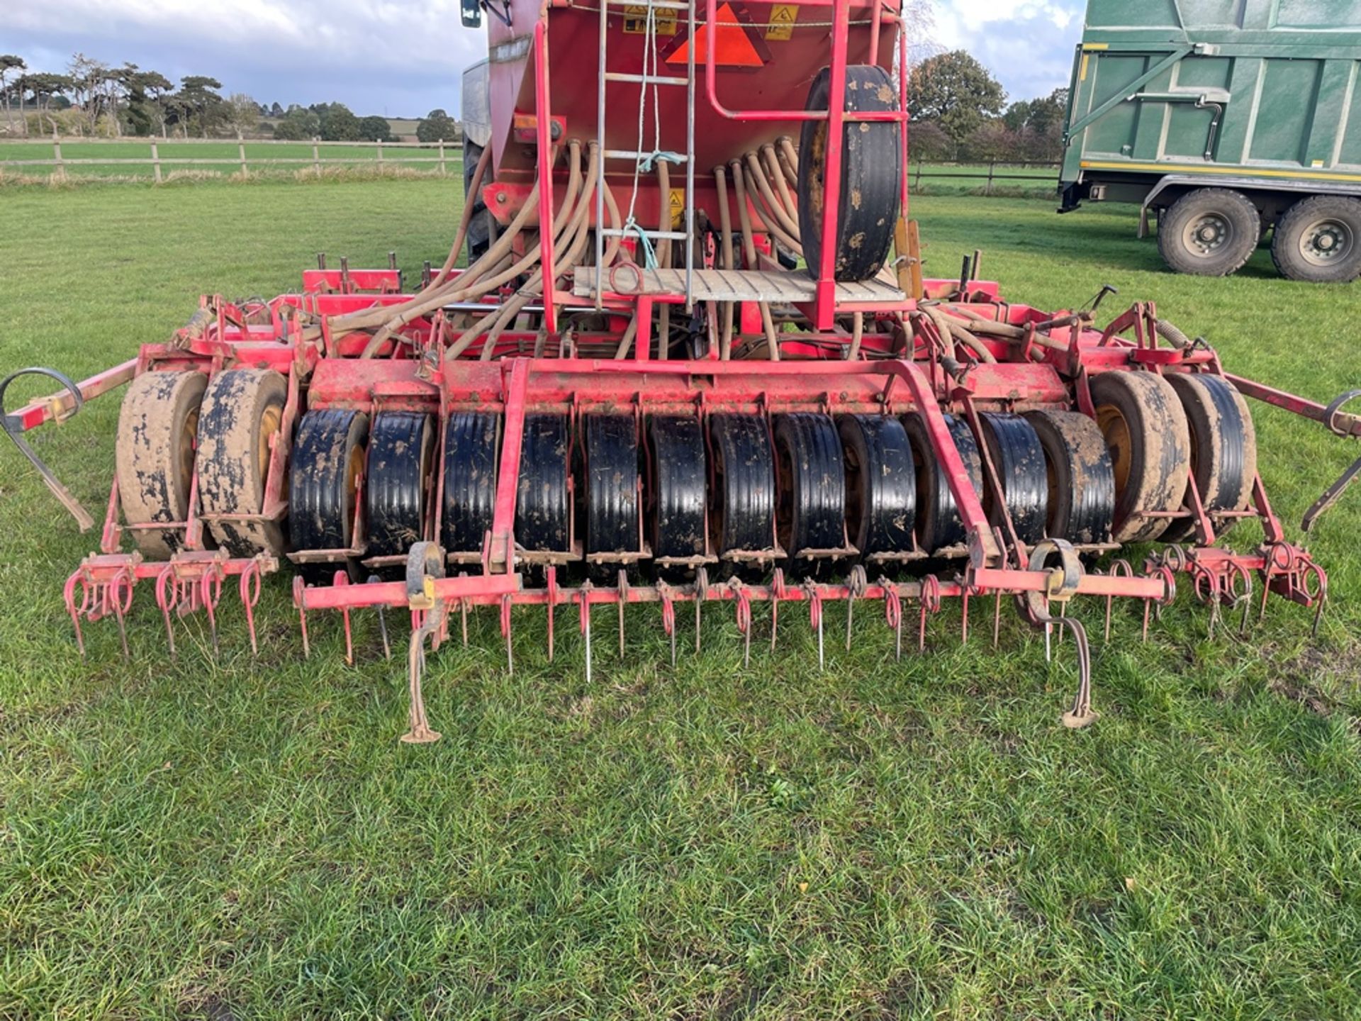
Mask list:
[[[1361,0],[1089,0],[1060,212],[1128,201],[1180,272],[1273,231],[1297,280],[1361,276]]]

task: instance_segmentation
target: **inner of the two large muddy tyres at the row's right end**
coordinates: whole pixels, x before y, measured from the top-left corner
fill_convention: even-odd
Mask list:
[[[1102,372],[1092,378],[1097,426],[1115,471],[1115,542],[1147,542],[1181,509],[1191,474],[1191,438],[1176,391],[1153,372]]]

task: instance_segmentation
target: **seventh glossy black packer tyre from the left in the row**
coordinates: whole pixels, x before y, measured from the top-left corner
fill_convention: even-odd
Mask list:
[[[774,543],[774,456],[765,418],[713,415],[709,531],[719,554]]]

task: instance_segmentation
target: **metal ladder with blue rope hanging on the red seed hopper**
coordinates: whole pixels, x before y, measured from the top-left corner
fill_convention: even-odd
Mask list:
[[[656,23],[657,11],[683,11],[689,20],[690,38],[686,45],[686,76],[679,75],[660,75],[657,71],[660,68],[652,68],[652,74],[648,75],[634,75],[621,71],[607,71],[606,69],[606,39],[608,38],[607,22],[610,11],[614,10],[619,15],[623,15],[625,8],[645,8],[645,18],[648,19],[649,31],[644,37],[644,48],[656,45]],[[695,25],[694,18],[694,0],[642,0],[642,3],[625,3],[623,0],[600,0],[600,76],[599,88],[596,98],[596,147],[600,152],[600,159],[596,162],[596,264],[595,264],[595,302],[596,308],[600,308],[600,295],[604,291],[604,240],[607,237],[625,237],[642,236],[646,238],[648,244],[653,241],[685,241],[685,306],[686,312],[694,305],[694,280],[693,280],[693,264],[694,264],[694,50],[698,45],[695,33],[700,26]],[[644,64],[646,68],[646,64]],[[686,143],[685,155],[680,157],[685,163],[685,230],[648,230],[638,225],[633,227],[606,227],[604,226],[604,189],[606,189],[606,163],[611,159],[632,161],[634,167],[644,159],[656,158],[656,152],[644,152],[627,148],[606,148],[604,147],[604,87],[607,82],[637,82],[640,86],[638,103],[640,106],[646,103],[648,87],[668,86],[678,87],[685,86],[686,88]],[[645,120],[645,106],[644,120]],[[642,144],[642,139],[638,139],[638,144]],[[663,195],[661,203],[668,204],[670,196]]]

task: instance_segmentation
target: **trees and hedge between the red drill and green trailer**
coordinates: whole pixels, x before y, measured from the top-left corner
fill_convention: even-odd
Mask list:
[[[1007,103],[1002,84],[965,50],[912,68],[909,146],[921,162],[1047,163],[1063,158],[1068,90]]]

